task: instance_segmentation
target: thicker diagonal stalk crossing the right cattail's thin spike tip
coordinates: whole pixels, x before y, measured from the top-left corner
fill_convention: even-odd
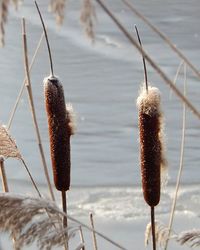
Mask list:
[[[113,20],[117,27],[122,31],[122,33],[127,37],[127,39],[136,47],[136,49],[145,57],[152,68],[160,75],[164,82],[171,87],[174,93],[180,98],[182,102],[193,112],[193,114],[200,119],[200,112],[195,106],[180,92],[180,90],[174,85],[174,83],[168,78],[168,76],[161,70],[156,62],[142,49],[137,41],[131,36],[131,34],[126,30],[126,28],[120,23],[120,21],[115,17],[115,15],[110,11],[110,9],[103,3],[102,0],[96,0],[96,2],[102,7],[102,9],[107,13],[108,16]]]

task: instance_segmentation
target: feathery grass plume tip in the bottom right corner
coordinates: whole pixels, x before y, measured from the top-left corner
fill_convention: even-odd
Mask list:
[[[193,229],[185,231],[178,235],[176,240],[181,244],[188,244],[190,247],[200,247],[200,230]]]

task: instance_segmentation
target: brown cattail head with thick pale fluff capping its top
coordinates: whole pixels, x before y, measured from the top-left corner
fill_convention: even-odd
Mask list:
[[[162,113],[160,92],[155,87],[143,87],[137,99],[139,110],[140,157],[144,199],[151,207],[160,201],[162,150]]]

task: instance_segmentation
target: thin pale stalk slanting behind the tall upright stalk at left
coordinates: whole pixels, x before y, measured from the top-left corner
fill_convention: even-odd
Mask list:
[[[32,67],[33,67],[33,65],[34,65],[34,63],[35,63],[35,59],[36,59],[36,56],[37,56],[38,51],[39,51],[39,49],[40,49],[40,46],[41,46],[41,44],[42,44],[43,38],[44,38],[44,33],[42,33],[42,35],[41,35],[41,37],[40,37],[40,40],[39,40],[39,42],[38,42],[38,44],[37,44],[37,47],[36,47],[36,49],[35,49],[35,53],[34,53],[34,55],[33,55],[33,57],[32,57],[31,64],[30,64],[30,67],[29,67],[29,72],[31,71],[31,69],[32,69]],[[13,118],[14,118],[14,116],[15,116],[17,107],[18,107],[18,105],[19,105],[19,102],[20,102],[20,100],[21,100],[21,97],[22,97],[22,94],[23,94],[23,91],[24,91],[24,88],[25,88],[25,84],[26,84],[26,77],[24,78],[24,81],[23,81],[23,83],[22,83],[21,89],[20,89],[20,91],[19,91],[19,94],[18,94],[17,99],[16,99],[16,102],[15,102],[15,105],[14,105],[12,111],[11,111],[10,118],[9,118],[8,124],[7,124],[8,130],[10,129],[10,127],[11,127],[11,125],[12,125]]]

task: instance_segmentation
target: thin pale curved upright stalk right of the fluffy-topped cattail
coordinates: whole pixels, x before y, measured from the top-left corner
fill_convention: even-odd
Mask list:
[[[184,94],[185,95],[186,95],[186,81],[187,81],[187,79],[186,79],[186,66],[184,65]],[[182,176],[182,172],[183,172],[183,158],[184,158],[184,150],[185,150],[185,130],[186,130],[185,127],[186,127],[186,107],[185,107],[185,104],[183,104],[180,163],[179,163],[179,171],[178,171],[177,180],[176,180],[176,189],[175,189],[174,199],[173,199],[171,213],[170,213],[170,219],[169,219],[169,225],[168,225],[169,232],[168,232],[168,238],[167,238],[166,245],[165,245],[165,250],[167,250],[170,234],[172,231],[172,224],[173,224],[174,214],[175,214],[175,210],[176,210],[177,196],[178,196],[178,191],[179,191],[180,182],[181,182],[181,176]]]

